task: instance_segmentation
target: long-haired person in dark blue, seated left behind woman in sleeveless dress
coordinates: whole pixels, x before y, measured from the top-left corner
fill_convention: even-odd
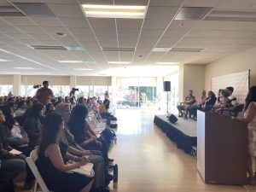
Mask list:
[[[29,148],[34,149],[38,145],[38,138],[41,133],[42,124],[40,122],[40,116],[43,115],[44,105],[41,102],[33,104],[30,113],[23,123],[23,128],[29,138]]]

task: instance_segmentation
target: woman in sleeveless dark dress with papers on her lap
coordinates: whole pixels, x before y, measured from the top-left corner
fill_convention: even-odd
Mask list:
[[[49,113],[44,119],[42,137],[38,150],[36,165],[49,190],[55,192],[89,192],[92,177],[79,173],[67,173],[88,162],[79,158],[73,163],[64,164],[67,148],[60,145],[63,122],[58,113]]]

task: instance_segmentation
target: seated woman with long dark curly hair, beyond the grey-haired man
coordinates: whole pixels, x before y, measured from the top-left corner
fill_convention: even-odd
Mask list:
[[[75,142],[79,143],[80,147],[86,150],[101,151],[102,157],[104,158],[106,165],[108,165],[108,148],[105,148],[105,145],[102,145],[102,143],[88,131],[85,120],[87,115],[88,110],[84,105],[75,106],[67,121],[67,126],[73,134]]]

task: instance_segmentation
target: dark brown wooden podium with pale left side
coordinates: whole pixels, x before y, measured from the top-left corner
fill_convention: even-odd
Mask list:
[[[247,124],[197,111],[197,170],[206,183],[247,182]]]

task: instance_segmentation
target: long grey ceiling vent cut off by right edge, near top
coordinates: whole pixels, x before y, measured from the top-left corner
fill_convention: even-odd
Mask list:
[[[256,21],[256,12],[214,10],[204,20]]]

